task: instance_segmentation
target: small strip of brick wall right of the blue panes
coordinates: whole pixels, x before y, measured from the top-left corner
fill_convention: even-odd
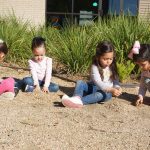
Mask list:
[[[139,0],[139,17],[150,20],[150,0]]]

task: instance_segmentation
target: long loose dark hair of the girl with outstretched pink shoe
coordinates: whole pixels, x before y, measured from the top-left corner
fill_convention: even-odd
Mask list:
[[[104,75],[103,75],[103,69],[101,67],[101,64],[99,62],[99,57],[103,56],[105,53],[109,53],[109,52],[113,52],[113,62],[110,65],[110,70],[112,71],[112,76],[111,79],[112,80],[116,80],[118,78],[118,71],[117,71],[117,65],[116,65],[116,54],[115,54],[115,50],[114,50],[114,46],[111,42],[109,41],[102,41],[100,43],[98,43],[97,47],[96,47],[96,54],[93,57],[93,61],[92,64],[96,65],[99,69],[99,73],[101,75],[102,80],[104,79]]]

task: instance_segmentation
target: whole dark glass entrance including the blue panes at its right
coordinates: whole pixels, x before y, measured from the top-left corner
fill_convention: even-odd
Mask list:
[[[139,0],[47,0],[47,22],[59,29],[66,22],[83,25],[87,21],[96,21],[100,16],[122,13],[137,16],[138,2]]]

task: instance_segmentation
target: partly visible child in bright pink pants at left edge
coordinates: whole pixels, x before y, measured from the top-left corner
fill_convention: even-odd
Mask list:
[[[8,53],[6,43],[0,39],[0,62],[3,61],[5,55]],[[0,99],[13,99],[15,81],[13,78],[0,79]]]

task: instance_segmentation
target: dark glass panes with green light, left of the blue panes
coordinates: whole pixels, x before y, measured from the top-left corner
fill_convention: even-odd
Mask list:
[[[96,20],[98,17],[98,1],[47,0],[47,22],[54,22],[52,23],[54,26],[64,26],[66,22],[78,24],[82,12],[85,13],[85,17],[87,13],[91,20]]]

